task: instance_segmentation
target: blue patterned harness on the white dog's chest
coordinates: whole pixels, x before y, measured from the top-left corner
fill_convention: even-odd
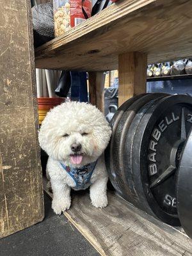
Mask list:
[[[70,166],[65,166],[65,164],[60,163],[62,168],[72,177],[74,182],[76,183],[76,186],[73,187],[75,190],[80,189],[86,189],[91,185],[91,178],[93,171],[95,170],[95,166],[97,164],[97,161],[86,164],[82,166],[81,168],[72,168]]]

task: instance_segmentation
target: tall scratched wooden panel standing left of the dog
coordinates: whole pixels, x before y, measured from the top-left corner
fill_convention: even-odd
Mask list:
[[[0,0],[0,237],[44,218],[29,3]]]

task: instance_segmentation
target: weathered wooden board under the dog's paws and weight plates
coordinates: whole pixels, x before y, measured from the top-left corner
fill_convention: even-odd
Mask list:
[[[112,192],[108,192],[108,200],[108,207],[96,209],[88,193],[74,193],[72,206],[65,212],[100,255],[192,255],[192,240],[186,234],[139,211]]]

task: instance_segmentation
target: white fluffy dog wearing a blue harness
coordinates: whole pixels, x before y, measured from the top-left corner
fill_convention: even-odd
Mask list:
[[[90,186],[95,207],[106,207],[108,174],[103,152],[111,128],[104,115],[91,104],[66,102],[51,109],[38,134],[40,147],[47,152],[47,175],[53,192],[56,214],[70,207],[70,188]]]

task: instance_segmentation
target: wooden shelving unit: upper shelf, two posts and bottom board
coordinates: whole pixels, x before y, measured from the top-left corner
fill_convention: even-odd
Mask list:
[[[192,56],[191,13],[190,0],[120,0],[65,35],[38,47],[36,68],[90,72],[90,99],[101,110],[101,74],[118,69],[121,105],[133,95],[145,92],[147,63]],[[192,240],[186,234],[140,211],[137,215],[137,210],[118,196],[109,194],[109,208],[104,211],[91,207],[87,195],[78,198],[65,215],[89,237],[101,255],[191,255]],[[142,220],[133,220],[132,216],[140,215]],[[108,221],[109,225],[116,221],[111,230],[106,227]],[[126,223],[127,230],[123,230]],[[143,232],[145,227],[147,232]],[[119,246],[120,241],[124,246]]]

